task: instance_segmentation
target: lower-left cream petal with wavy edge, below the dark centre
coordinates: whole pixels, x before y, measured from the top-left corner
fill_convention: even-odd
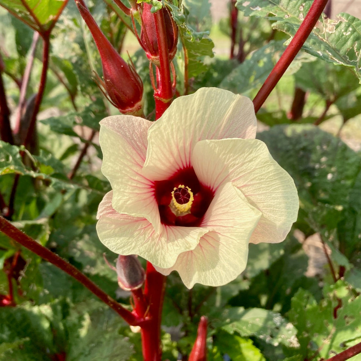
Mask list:
[[[205,227],[162,226],[157,234],[145,218],[118,213],[112,206],[112,191],[99,204],[96,230],[100,241],[119,255],[139,255],[153,265],[174,265],[180,253],[194,249]]]

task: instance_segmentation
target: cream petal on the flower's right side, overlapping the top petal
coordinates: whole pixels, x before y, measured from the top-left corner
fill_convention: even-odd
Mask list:
[[[299,199],[290,175],[258,139],[204,140],[192,165],[199,181],[217,189],[232,182],[262,212],[251,243],[282,242],[297,219]]]

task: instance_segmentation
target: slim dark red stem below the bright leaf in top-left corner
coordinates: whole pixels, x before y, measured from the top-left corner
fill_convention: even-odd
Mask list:
[[[43,35],[42,35],[43,36]],[[39,90],[36,95],[35,99],[35,105],[34,105],[34,112],[32,113],[29,128],[26,133],[26,137],[24,140],[25,147],[27,144],[29,144],[32,133],[35,131],[35,124],[36,124],[36,116],[38,115],[40,104],[42,103],[43,94],[45,90],[45,84],[46,84],[46,78],[47,78],[47,72],[48,72],[48,66],[49,66],[49,50],[50,50],[50,38],[49,34],[43,36],[43,42],[44,42],[44,48],[43,48],[43,68],[42,73],[40,76],[40,84],[39,84]]]

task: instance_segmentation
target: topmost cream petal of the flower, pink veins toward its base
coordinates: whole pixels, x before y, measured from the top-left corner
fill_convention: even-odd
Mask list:
[[[201,88],[173,101],[148,131],[143,174],[161,181],[190,165],[195,144],[204,139],[255,138],[252,101],[227,90]]]

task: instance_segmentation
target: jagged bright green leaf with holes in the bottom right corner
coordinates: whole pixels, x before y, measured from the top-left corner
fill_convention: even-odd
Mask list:
[[[319,304],[302,289],[292,299],[289,317],[306,358],[317,352],[326,359],[361,340],[361,297],[355,297],[341,280],[326,286],[324,293]]]

